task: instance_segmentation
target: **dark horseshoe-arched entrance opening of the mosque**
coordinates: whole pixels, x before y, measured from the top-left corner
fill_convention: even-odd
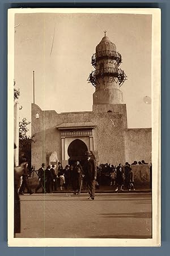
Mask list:
[[[69,155],[69,165],[75,161],[80,161],[83,164],[86,159],[85,152],[88,151],[87,145],[79,139],[72,141],[68,147],[67,153]]]

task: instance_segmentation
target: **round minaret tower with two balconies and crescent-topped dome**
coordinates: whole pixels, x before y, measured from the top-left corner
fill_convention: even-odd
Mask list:
[[[104,31],[106,34],[107,31]],[[120,87],[126,80],[123,70],[119,69],[122,62],[121,54],[116,51],[116,45],[104,35],[96,46],[92,56],[93,71],[88,81],[96,87],[93,94],[93,104],[123,104]]]

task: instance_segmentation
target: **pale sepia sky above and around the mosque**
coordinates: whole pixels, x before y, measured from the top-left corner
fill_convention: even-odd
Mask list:
[[[128,128],[151,127],[151,104],[143,102],[151,97],[151,21],[151,15],[135,14],[16,14],[14,79],[23,106],[20,119],[31,121],[33,70],[35,103],[42,110],[92,111],[95,87],[87,82],[94,70],[91,56],[107,30],[128,76],[121,87]]]

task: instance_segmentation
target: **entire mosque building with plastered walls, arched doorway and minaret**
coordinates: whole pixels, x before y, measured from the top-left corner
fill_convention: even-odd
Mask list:
[[[97,163],[151,162],[151,128],[128,128],[121,91],[127,77],[121,62],[116,45],[105,35],[96,46],[91,60],[95,70],[88,77],[95,86],[92,111],[58,114],[32,103],[32,165],[36,169],[42,163],[59,161],[65,166],[84,161],[87,150]]]

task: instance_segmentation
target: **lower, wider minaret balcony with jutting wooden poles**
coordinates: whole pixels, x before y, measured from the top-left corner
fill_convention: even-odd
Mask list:
[[[127,79],[127,76],[124,72],[124,70],[118,69],[118,68],[103,68],[103,69],[96,69],[93,71],[87,81],[89,83],[92,83],[96,87],[100,83],[99,79],[101,78],[103,82],[105,82],[104,77],[108,78],[108,81],[110,82],[118,82],[119,87],[122,86],[122,84]]]

